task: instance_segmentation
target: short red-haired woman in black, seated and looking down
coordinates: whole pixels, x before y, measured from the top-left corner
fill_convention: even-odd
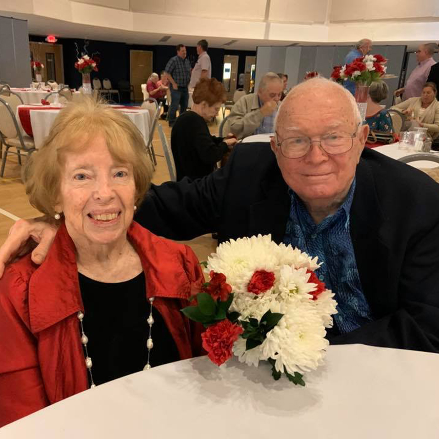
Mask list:
[[[212,136],[207,121],[216,117],[226,95],[216,79],[201,79],[194,88],[191,111],[183,113],[171,132],[171,149],[177,181],[183,177],[195,180],[210,174],[237,142],[232,134],[225,138]]]

